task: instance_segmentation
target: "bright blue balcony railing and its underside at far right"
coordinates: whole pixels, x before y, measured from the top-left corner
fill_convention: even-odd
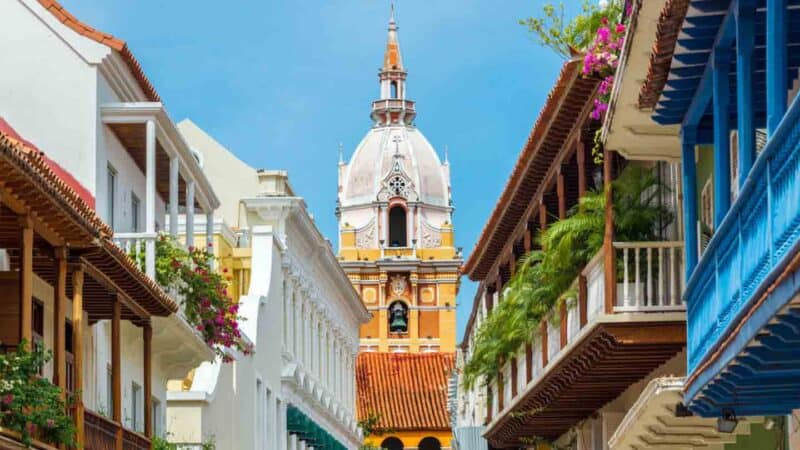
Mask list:
[[[686,393],[704,416],[800,407],[798,119],[795,99],[687,285]]]

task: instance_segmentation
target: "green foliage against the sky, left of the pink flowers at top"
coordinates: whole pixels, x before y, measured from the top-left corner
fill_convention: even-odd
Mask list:
[[[569,59],[574,52],[585,50],[594,40],[604,17],[620,17],[622,0],[610,0],[605,8],[590,0],[583,0],[581,13],[572,19],[566,18],[564,3],[546,3],[542,15],[519,21],[528,28],[539,45],[550,48]]]

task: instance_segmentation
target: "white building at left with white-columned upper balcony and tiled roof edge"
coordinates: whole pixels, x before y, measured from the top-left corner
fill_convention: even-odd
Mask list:
[[[146,256],[142,270],[155,276],[155,240],[166,216],[211,214],[218,200],[186,142],[126,44],[83,24],[56,1],[0,2],[0,118],[42,149],[59,171],[80,184],[90,206],[114,230],[115,241]],[[175,231],[175,230],[173,230]],[[44,328],[52,323],[53,293],[41,287]],[[142,330],[121,329],[121,417],[144,431],[152,404],[154,434],[166,428],[166,385],[182,378],[213,350],[180,315],[155,317],[152,326],[152,398],[143,387]],[[112,416],[111,325],[84,330],[83,392],[86,408]],[[45,342],[52,337],[45,333]]]

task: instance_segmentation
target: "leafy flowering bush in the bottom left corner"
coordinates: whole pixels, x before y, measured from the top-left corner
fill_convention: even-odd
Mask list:
[[[39,376],[51,352],[39,345],[27,348],[22,341],[16,352],[0,354],[0,426],[19,433],[27,446],[34,438],[72,446],[76,430],[67,414],[69,399]]]

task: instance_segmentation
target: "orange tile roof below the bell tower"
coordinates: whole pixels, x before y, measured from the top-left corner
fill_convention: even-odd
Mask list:
[[[358,418],[383,430],[449,430],[447,390],[453,353],[361,353],[356,364]]]

